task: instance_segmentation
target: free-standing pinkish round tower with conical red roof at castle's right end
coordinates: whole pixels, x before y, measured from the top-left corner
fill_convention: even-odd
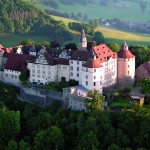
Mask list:
[[[118,86],[131,87],[134,85],[135,56],[129,51],[126,41],[118,52]]]

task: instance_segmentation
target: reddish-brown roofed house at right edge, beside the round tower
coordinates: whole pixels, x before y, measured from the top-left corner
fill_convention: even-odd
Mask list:
[[[136,81],[140,81],[143,78],[150,79],[150,61],[146,62],[144,64],[141,64],[136,70],[135,70],[135,79]]]

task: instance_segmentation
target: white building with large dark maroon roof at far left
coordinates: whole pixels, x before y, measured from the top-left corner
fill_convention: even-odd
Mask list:
[[[0,79],[2,81],[18,84],[19,75],[27,71],[27,63],[35,59],[34,56],[3,52],[0,68]]]

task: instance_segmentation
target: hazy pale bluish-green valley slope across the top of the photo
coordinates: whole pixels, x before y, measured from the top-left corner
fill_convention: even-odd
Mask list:
[[[47,0],[47,2],[54,2],[57,7],[51,4],[45,4],[44,0],[32,1],[34,5],[43,10],[53,9],[69,15],[80,12],[82,18],[87,15],[88,19],[118,18],[124,21],[136,22],[147,22],[149,20],[149,0],[144,0],[143,5],[140,5],[140,0],[80,0],[81,3],[73,0]],[[101,1],[103,1],[103,4]]]

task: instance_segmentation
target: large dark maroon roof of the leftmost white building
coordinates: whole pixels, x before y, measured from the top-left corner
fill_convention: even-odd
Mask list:
[[[4,57],[7,58],[4,69],[20,72],[27,71],[27,61],[33,62],[35,60],[35,56],[25,54],[5,53]]]

